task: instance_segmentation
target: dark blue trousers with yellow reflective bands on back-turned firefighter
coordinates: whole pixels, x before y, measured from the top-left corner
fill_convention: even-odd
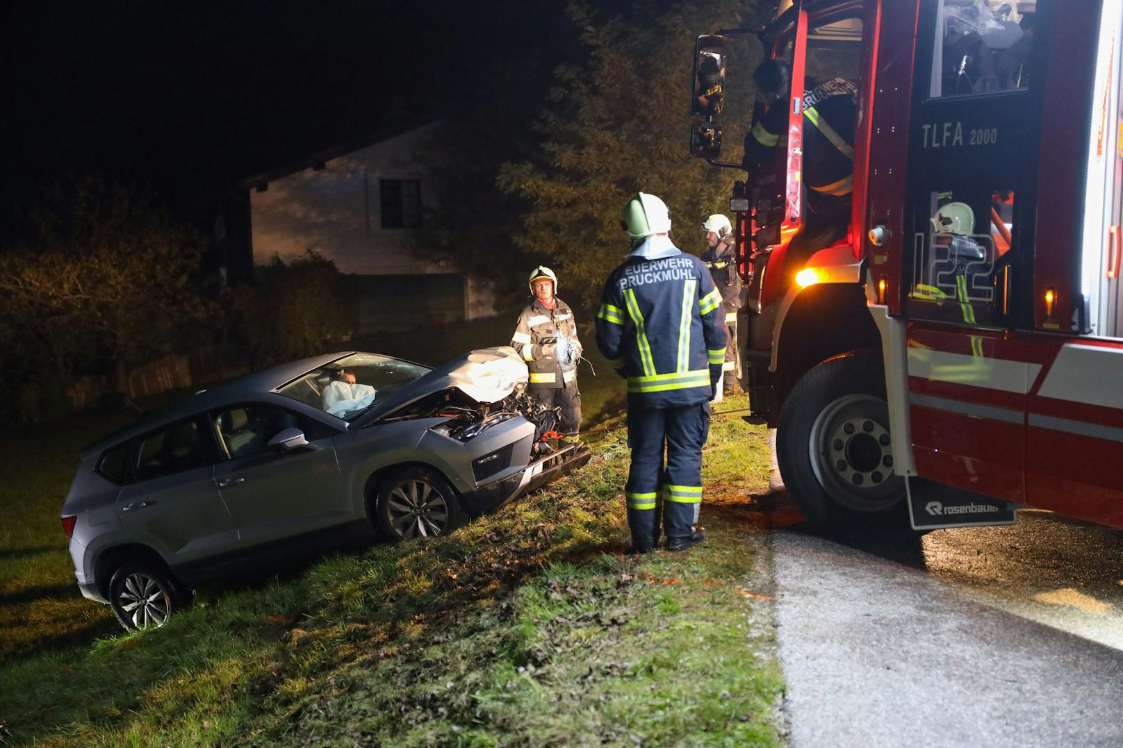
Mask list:
[[[710,435],[710,403],[672,408],[628,408],[631,466],[624,494],[633,546],[659,539],[659,514],[667,538],[694,531],[702,504],[702,445]],[[664,467],[666,447],[666,467]]]

